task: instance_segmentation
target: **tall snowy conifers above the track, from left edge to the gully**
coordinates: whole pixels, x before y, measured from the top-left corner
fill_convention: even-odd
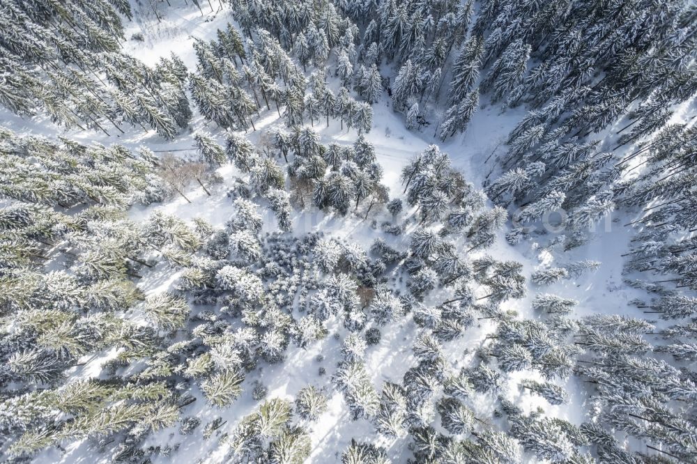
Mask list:
[[[207,42],[194,38],[194,72],[176,54],[153,67],[121,52],[123,24],[130,20],[128,2],[101,1],[99,8],[70,3],[3,6],[0,47],[6,74],[0,104],[20,116],[45,113],[67,128],[124,133],[123,123],[152,127],[174,139],[192,118],[190,100],[206,120],[224,129],[256,130],[252,116],[273,101],[291,127],[321,116],[339,118],[342,127],[368,132],[371,104],[382,92],[382,77],[373,64],[355,68],[358,27],[339,17],[331,3],[300,13],[282,5],[260,3],[252,13],[233,3],[233,17]],[[298,7],[296,5],[296,7]],[[273,13],[271,13],[273,12]],[[280,33],[265,15],[288,16],[292,33]],[[330,26],[330,31],[324,29]],[[327,36],[329,33],[329,37]],[[323,82],[323,70],[335,50],[336,75],[344,86],[335,93]],[[302,65],[302,69],[300,66]],[[317,69],[307,93],[307,64]],[[354,70],[355,68],[355,70]],[[355,71],[355,72],[354,72]],[[353,88],[365,99],[349,95]]]

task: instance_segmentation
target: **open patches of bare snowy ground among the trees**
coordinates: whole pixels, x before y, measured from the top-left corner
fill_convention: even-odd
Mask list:
[[[216,2],[213,1],[213,3],[214,8],[216,8]],[[195,56],[191,47],[192,37],[213,38],[217,28],[222,28],[231,21],[227,10],[212,14],[206,2],[201,2],[201,8],[204,10],[204,16],[201,16],[197,8],[191,5],[163,8],[160,11],[162,22],[158,22],[148,5],[141,6],[141,11],[135,15],[137,20],[127,25],[126,36],[128,38],[133,33],[142,33],[145,40],[144,42],[128,40],[124,48],[125,52],[141,59],[148,65],[156,63],[160,56],[167,56],[170,52],[175,52],[190,69],[193,69]],[[522,107],[502,112],[500,107],[496,105],[484,104],[484,108],[475,114],[465,134],[448,139],[447,143],[441,144],[433,137],[436,121],[431,121],[431,126],[424,127],[422,132],[406,130],[404,116],[392,111],[387,95],[383,95],[383,98],[374,104],[373,109],[374,124],[366,137],[376,148],[378,162],[385,170],[383,183],[389,187],[391,198],[402,194],[403,187],[399,182],[401,168],[413,155],[434,143],[439,144],[441,150],[450,155],[455,166],[461,169],[467,180],[477,187],[481,186],[493,169],[496,156],[505,153],[503,141],[505,141],[507,134],[526,113]],[[687,107],[684,111],[687,111]],[[675,118],[682,117],[680,115],[685,114],[684,111],[676,113]],[[38,118],[25,120],[3,114],[3,120],[4,125],[18,133],[60,134],[56,126]],[[254,123],[256,131],[245,134],[252,141],[256,141],[263,131],[282,125],[275,109],[262,111],[261,118],[259,121],[255,120]],[[355,130],[342,131],[338,121],[330,121],[328,127],[325,123],[320,122],[315,128],[321,134],[321,141],[325,144],[330,142],[351,144],[357,137]],[[207,125],[203,118],[198,115],[192,121],[192,132],[196,130],[208,130],[218,141],[221,143],[224,141],[224,133],[216,130],[213,124]],[[163,141],[154,131],[144,133],[135,128],[124,135],[112,134],[112,137],[94,132],[71,132],[70,137],[86,143],[89,141],[97,141],[102,144],[118,143],[129,148],[144,145],[158,152],[180,150],[176,152],[178,155],[194,156],[194,150],[187,151],[193,146],[190,132],[180,134],[175,141],[171,142]],[[602,137],[602,134],[599,137]],[[630,148],[631,146],[627,147],[628,150]],[[486,162],[487,159],[488,162]],[[144,218],[154,210],[164,210],[184,219],[201,217],[215,226],[222,226],[232,213],[232,204],[227,198],[226,192],[233,182],[234,176],[239,175],[239,173],[236,173],[231,165],[221,167],[219,173],[224,182],[213,187],[213,196],[211,197],[208,197],[197,185],[192,185],[190,190],[185,192],[192,203],[186,203],[181,198],[174,198],[165,204],[148,208],[134,208],[131,215],[136,219]],[[410,215],[413,215],[413,211],[403,212],[401,219],[406,220]],[[265,230],[273,230],[275,228],[273,217],[268,216],[265,219]],[[388,219],[386,213],[385,219]],[[508,245],[503,239],[503,233],[501,233],[493,247],[469,257],[473,258],[486,253],[499,260],[520,261],[524,265],[526,277],[529,277],[534,270],[550,265],[562,265],[581,259],[601,261],[602,266],[597,272],[583,274],[579,279],[562,280],[544,288],[544,290],[537,289],[530,284],[528,295],[521,300],[505,303],[506,309],[518,311],[522,318],[538,318],[539,315],[535,314],[530,307],[530,301],[537,291],[544,291],[579,300],[579,307],[575,311],[575,315],[579,317],[598,312],[636,316],[637,310],[629,307],[627,302],[640,295],[634,289],[622,285],[622,258],[620,255],[626,252],[629,238],[632,235],[631,228],[622,226],[627,222],[629,221],[625,220],[625,217],[612,217],[611,215],[606,219],[606,222],[601,222],[598,225],[597,231],[588,245],[571,252],[565,252],[563,254],[564,261],[559,261],[562,259],[560,258],[562,254],[558,250],[553,247],[547,248],[553,234],[546,234],[544,231],[531,235],[529,240],[523,241],[516,247]],[[407,231],[412,231],[415,228],[415,223],[410,222],[409,224]],[[296,212],[293,217],[293,231],[298,235],[309,231],[322,231],[326,235],[359,242],[365,248],[369,247],[372,240],[378,236],[385,238],[390,244],[399,245],[400,249],[406,249],[408,245],[408,234],[398,238],[387,236],[379,229],[373,229],[371,220],[362,219],[362,215],[349,214],[346,218],[335,217],[325,215],[314,208],[309,212]],[[460,248],[462,249],[462,247]],[[162,267],[164,268],[164,265]],[[176,277],[176,274],[151,272],[141,281],[139,286],[146,293],[158,293],[169,288]],[[442,293],[438,294],[438,291],[434,293],[436,293],[434,301],[442,301],[447,296]],[[493,323],[481,320],[479,325],[467,330],[465,337],[445,343],[446,353],[452,365],[466,366],[470,363],[475,356],[475,350],[487,343],[487,334],[491,333],[493,327]],[[390,330],[383,330],[381,342],[368,348],[366,365],[378,391],[385,380],[400,382],[406,369],[416,364],[411,346],[421,332],[422,329],[415,325],[411,318],[404,318],[398,324],[392,325]],[[196,415],[203,424],[216,416],[220,416],[224,421],[227,421],[219,429],[220,433],[230,433],[240,418],[256,408],[257,403],[252,400],[252,388],[250,387],[254,380],[259,380],[268,387],[269,397],[276,396],[286,399],[293,399],[298,390],[306,385],[316,385],[325,390],[325,393],[330,396],[330,401],[328,411],[317,422],[309,425],[312,429],[311,461],[322,464],[337,462],[340,458],[340,451],[346,449],[351,438],[372,441],[375,434],[372,424],[367,420],[351,420],[342,395],[332,389],[330,385],[331,373],[341,357],[339,353],[341,340],[335,339],[332,335],[339,334],[343,339],[346,330],[337,324],[335,327],[329,327],[329,333],[329,337],[315,343],[307,350],[291,346],[287,352],[286,360],[282,364],[262,363],[256,371],[247,376],[243,396],[231,407],[214,410],[208,407],[202,396],[198,394],[198,401],[187,406],[183,410],[183,415]],[[319,354],[325,357],[322,362],[316,360],[316,356]],[[114,353],[102,353],[102,355],[91,359],[86,366],[77,368],[79,370],[76,369],[75,378],[98,374],[100,364],[113,355]],[[327,375],[319,376],[320,366],[325,367]],[[588,410],[588,397],[575,378],[571,378],[565,385],[571,394],[570,403],[562,406],[549,406],[539,397],[521,392],[516,385],[523,376],[530,378],[534,374],[526,372],[509,376],[508,388],[505,390],[507,398],[526,411],[533,410],[537,406],[544,406],[549,415],[568,419],[575,424],[580,424],[583,421],[584,411]],[[471,403],[470,407],[475,410],[477,417],[491,417],[493,397],[487,398],[484,395],[477,395],[477,401]],[[172,430],[174,428],[153,433],[146,444],[180,443],[178,452],[174,457],[174,461],[178,463],[224,462],[229,449],[225,444],[220,444],[216,438],[202,441],[200,434],[183,436]],[[411,451],[406,447],[407,442],[408,439],[404,438],[391,442],[378,442],[378,444],[385,446],[393,462],[398,463],[405,462],[406,458],[411,456]],[[108,462],[106,456],[96,454],[91,446],[88,440],[84,440],[70,445],[64,453],[58,449],[50,449],[43,452],[38,461],[45,463]],[[160,458],[160,461],[167,462],[164,458]],[[530,462],[534,462],[533,458],[530,458]]]

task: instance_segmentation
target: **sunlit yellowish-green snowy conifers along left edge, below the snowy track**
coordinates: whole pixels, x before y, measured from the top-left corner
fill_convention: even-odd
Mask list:
[[[132,203],[167,195],[156,158],[148,150],[18,137],[6,129],[0,137],[0,308],[14,321],[2,333],[3,451],[22,456],[127,430],[138,431],[139,442],[171,426],[184,399],[158,376],[63,385],[102,350],[118,351],[115,365],[154,354],[161,334],[187,319],[180,295],[145,297],[136,284],[155,255],[174,263],[201,245],[174,217],[142,224],[125,217]],[[141,311],[149,325],[118,317],[125,311]]]

